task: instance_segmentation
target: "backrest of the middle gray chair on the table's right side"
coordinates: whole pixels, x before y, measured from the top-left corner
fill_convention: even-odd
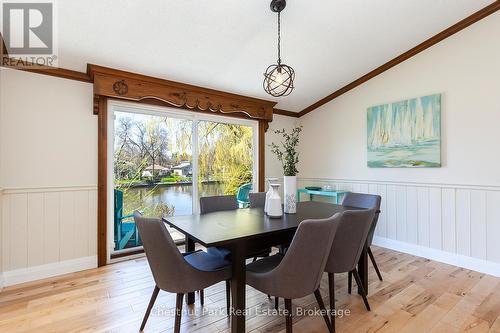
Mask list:
[[[356,267],[374,215],[374,209],[348,210],[342,214],[325,271],[345,273]]]

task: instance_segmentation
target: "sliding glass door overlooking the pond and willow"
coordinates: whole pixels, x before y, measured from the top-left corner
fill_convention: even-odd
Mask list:
[[[189,215],[199,212],[200,196],[241,194],[256,184],[256,121],[123,102],[108,109],[111,253],[142,245],[135,211]]]

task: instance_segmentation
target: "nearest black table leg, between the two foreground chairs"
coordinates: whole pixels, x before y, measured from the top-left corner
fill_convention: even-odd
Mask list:
[[[245,257],[243,246],[235,246],[231,249],[231,261],[233,268],[233,276],[231,278],[231,296],[233,302],[232,309],[230,311],[232,333],[245,332]]]

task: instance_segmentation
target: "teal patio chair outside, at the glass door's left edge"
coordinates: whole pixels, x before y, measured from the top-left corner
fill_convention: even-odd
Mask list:
[[[123,223],[126,219],[131,219],[134,214],[123,215],[123,192],[115,189],[115,249],[123,250],[129,241],[135,241],[135,246],[139,244],[139,234],[135,222]],[[134,238],[132,238],[134,237]]]

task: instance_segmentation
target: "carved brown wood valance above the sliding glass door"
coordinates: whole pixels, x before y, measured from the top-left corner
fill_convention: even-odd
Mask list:
[[[97,65],[88,65],[88,74],[94,82],[94,113],[99,110],[99,96],[106,96],[137,102],[153,99],[174,107],[273,120],[275,102]]]

